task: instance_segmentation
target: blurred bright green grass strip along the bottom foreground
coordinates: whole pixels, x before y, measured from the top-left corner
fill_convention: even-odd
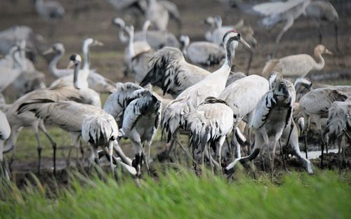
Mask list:
[[[84,182],[82,183],[79,182]],[[279,185],[266,178],[234,183],[219,176],[171,171],[158,180],[77,178],[48,199],[42,186],[1,188],[6,218],[350,218],[350,174],[286,175]]]

